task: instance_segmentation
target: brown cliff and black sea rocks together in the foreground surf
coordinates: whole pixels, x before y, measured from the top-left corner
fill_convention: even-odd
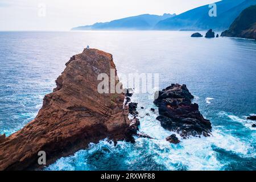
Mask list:
[[[138,104],[131,102],[133,89],[125,89],[124,94],[98,93],[100,73],[109,76],[110,69],[114,69],[117,76],[112,55],[84,49],[71,57],[66,66],[56,80],[56,88],[44,97],[36,118],[7,138],[0,135],[0,170],[42,168],[105,138],[114,143],[118,140],[135,143],[135,136],[154,139],[139,133]],[[160,114],[156,119],[164,129],[175,131],[183,139],[209,137],[210,121],[204,119],[192,99],[186,85],[172,84],[160,90],[154,101]],[[155,113],[153,108],[150,111]],[[180,142],[175,134],[166,140]],[[47,155],[47,164],[43,166],[38,164],[39,151]]]

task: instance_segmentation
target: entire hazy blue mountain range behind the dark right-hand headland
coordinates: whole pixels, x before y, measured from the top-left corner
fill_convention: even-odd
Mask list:
[[[209,16],[209,5],[205,5],[179,15],[143,14],[72,30],[225,30],[244,9],[256,5],[256,0],[222,0],[216,5],[217,16],[213,17]]]

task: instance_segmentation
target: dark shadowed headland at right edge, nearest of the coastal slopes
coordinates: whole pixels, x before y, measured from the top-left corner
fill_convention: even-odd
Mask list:
[[[243,10],[221,36],[256,39],[256,5]]]

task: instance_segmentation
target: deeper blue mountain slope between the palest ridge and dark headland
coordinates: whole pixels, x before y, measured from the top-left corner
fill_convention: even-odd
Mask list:
[[[156,24],[157,30],[196,29],[224,30],[237,18],[240,13],[256,0],[223,0],[216,2],[217,16],[209,16],[209,5],[197,7],[175,17],[162,20]]]

